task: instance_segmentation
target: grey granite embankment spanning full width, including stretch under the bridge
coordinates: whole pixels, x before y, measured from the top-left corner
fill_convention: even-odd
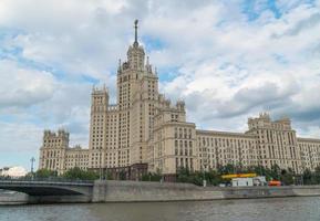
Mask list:
[[[85,194],[38,196],[35,199],[23,193],[2,192],[0,204],[197,201],[281,197],[320,197],[320,186],[203,188],[189,183],[97,180]]]

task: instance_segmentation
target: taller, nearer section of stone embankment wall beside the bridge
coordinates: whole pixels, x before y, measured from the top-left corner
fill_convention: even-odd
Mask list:
[[[221,191],[211,191],[188,183],[135,181],[96,181],[93,202],[175,201],[223,199]]]

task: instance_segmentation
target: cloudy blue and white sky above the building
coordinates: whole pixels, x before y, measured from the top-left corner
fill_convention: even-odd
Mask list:
[[[320,138],[320,0],[0,0],[0,168],[38,165],[44,129],[87,148],[92,86],[116,102],[135,19],[197,128],[245,131],[268,112]]]

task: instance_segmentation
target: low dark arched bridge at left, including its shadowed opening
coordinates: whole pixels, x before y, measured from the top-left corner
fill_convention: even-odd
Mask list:
[[[23,192],[29,202],[90,202],[93,181],[65,179],[0,179],[0,189]]]

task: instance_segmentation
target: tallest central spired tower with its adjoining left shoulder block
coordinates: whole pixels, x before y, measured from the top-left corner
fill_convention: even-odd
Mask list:
[[[105,87],[92,91],[90,126],[90,167],[127,176],[147,170],[147,141],[158,101],[158,78],[135,38],[127,50],[127,61],[117,70],[116,105],[109,104]]]

